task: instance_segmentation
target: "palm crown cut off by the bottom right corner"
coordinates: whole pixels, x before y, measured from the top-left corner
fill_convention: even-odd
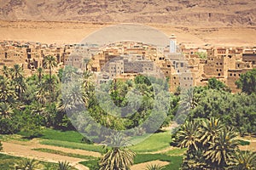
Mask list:
[[[253,170],[256,169],[256,152],[236,151],[236,155],[230,159],[229,169]]]

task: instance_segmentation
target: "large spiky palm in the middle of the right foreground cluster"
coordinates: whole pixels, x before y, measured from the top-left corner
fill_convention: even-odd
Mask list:
[[[218,134],[218,138],[209,142],[210,146],[204,156],[212,162],[212,167],[226,167],[230,157],[238,146],[237,133],[233,128],[224,128]]]

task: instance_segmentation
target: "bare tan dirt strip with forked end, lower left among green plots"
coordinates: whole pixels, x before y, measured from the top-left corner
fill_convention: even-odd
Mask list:
[[[40,152],[36,150],[32,150],[35,148],[46,148],[51,150],[61,150],[67,153],[75,153],[85,156],[101,156],[100,153],[97,152],[91,152],[86,150],[73,150],[73,149],[67,149],[67,148],[61,148],[61,147],[55,147],[55,146],[48,146],[44,144],[26,144],[23,142],[19,142],[20,144],[15,144],[12,142],[2,142],[3,143],[3,153],[9,154],[12,156],[20,156],[20,157],[28,157],[28,158],[34,158],[39,161],[49,161],[57,163],[58,161],[68,161],[71,163],[73,167],[78,168],[79,170],[89,170],[88,167],[84,167],[83,165],[79,164],[79,161],[85,161],[84,159],[70,157],[70,156],[60,156],[56,154],[46,153],[46,152]]]

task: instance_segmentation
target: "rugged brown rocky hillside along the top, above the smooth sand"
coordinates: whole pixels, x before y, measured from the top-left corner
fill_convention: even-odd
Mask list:
[[[0,0],[0,20],[256,26],[255,0]]]

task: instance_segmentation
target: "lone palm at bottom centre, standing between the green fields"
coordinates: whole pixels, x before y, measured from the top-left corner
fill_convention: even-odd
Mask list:
[[[110,140],[110,141],[109,141]],[[127,170],[133,164],[135,152],[127,149],[127,142],[120,133],[107,139],[112,148],[102,157],[100,170]]]

